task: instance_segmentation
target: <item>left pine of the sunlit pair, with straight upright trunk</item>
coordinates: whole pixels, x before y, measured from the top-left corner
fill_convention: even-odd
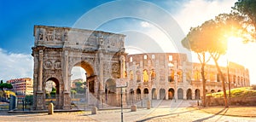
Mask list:
[[[201,77],[203,84],[203,97],[202,97],[202,106],[206,107],[206,78],[205,78],[205,66],[210,60],[210,57],[206,57],[207,54],[207,38],[204,38],[204,30],[202,26],[197,26],[190,29],[189,34],[183,38],[182,44],[183,47],[194,51],[197,54],[197,58],[201,62]]]

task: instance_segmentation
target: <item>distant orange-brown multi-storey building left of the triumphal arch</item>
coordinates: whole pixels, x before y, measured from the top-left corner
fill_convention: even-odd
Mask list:
[[[15,78],[10,79],[7,83],[13,85],[12,91],[18,98],[25,98],[27,95],[33,95],[33,79],[32,78]]]

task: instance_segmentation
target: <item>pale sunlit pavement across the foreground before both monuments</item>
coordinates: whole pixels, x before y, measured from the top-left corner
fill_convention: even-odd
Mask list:
[[[178,121],[178,122],[256,122],[256,118],[232,117],[205,113],[196,107],[193,101],[163,101],[159,107],[151,109],[138,108],[137,112],[124,109],[124,121]],[[0,112],[0,121],[106,121],[120,122],[120,109],[101,110],[96,115],[91,115],[90,111],[76,113],[6,113]]]

